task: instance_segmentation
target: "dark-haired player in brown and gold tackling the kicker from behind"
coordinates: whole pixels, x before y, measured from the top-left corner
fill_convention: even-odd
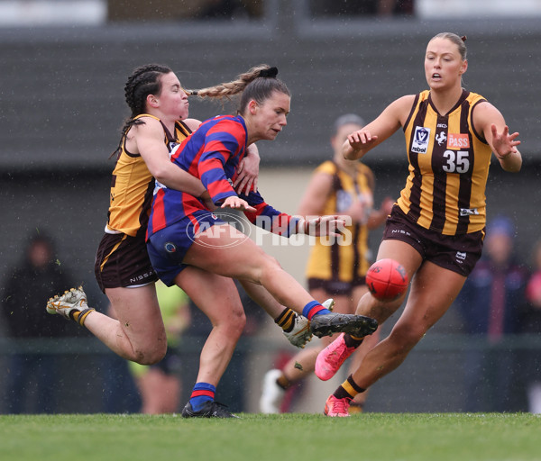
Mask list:
[[[137,68],[124,86],[132,115],[113,155],[117,155],[111,185],[105,235],[96,254],[96,280],[107,295],[115,318],[87,306],[82,288],[50,299],[47,310],[85,325],[98,339],[142,365],[160,361],[167,350],[165,328],[148,257],[145,237],[154,178],[160,184],[205,200],[205,188],[195,177],[170,162],[170,150],[186,139],[199,121],[188,119],[188,93],[170,68],[151,64]],[[239,165],[235,187],[246,194],[257,185],[257,149]],[[307,319],[284,308],[261,285],[243,283],[247,293],[282,327],[291,343],[303,347],[310,338]],[[228,294],[224,294],[226,298]],[[238,296],[231,294],[231,296]],[[224,316],[227,309],[224,309]],[[224,322],[234,320],[224,319]]]

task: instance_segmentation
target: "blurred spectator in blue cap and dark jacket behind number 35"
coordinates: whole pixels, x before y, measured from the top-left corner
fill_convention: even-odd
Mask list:
[[[489,222],[483,258],[456,304],[472,338],[466,350],[465,411],[512,411],[516,399],[516,354],[505,335],[518,332],[527,271],[513,254],[515,226],[506,216]]]

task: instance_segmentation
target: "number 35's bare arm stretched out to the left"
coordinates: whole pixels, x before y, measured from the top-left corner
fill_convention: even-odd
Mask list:
[[[344,142],[344,158],[356,160],[397,131],[406,121],[415,95],[402,96],[389,104],[376,120],[362,130],[353,131]]]

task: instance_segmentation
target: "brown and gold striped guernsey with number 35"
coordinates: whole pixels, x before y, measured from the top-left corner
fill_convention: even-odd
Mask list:
[[[485,226],[485,189],[491,147],[475,131],[472,111],[486,102],[463,90],[454,108],[437,113],[426,90],[416,96],[404,125],[409,175],[398,200],[418,225],[456,235]]]

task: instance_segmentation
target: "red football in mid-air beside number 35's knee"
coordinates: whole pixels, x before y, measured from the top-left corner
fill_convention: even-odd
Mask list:
[[[394,259],[380,259],[368,269],[366,285],[374,298],[394,301],[408,290],[408,274]]]

